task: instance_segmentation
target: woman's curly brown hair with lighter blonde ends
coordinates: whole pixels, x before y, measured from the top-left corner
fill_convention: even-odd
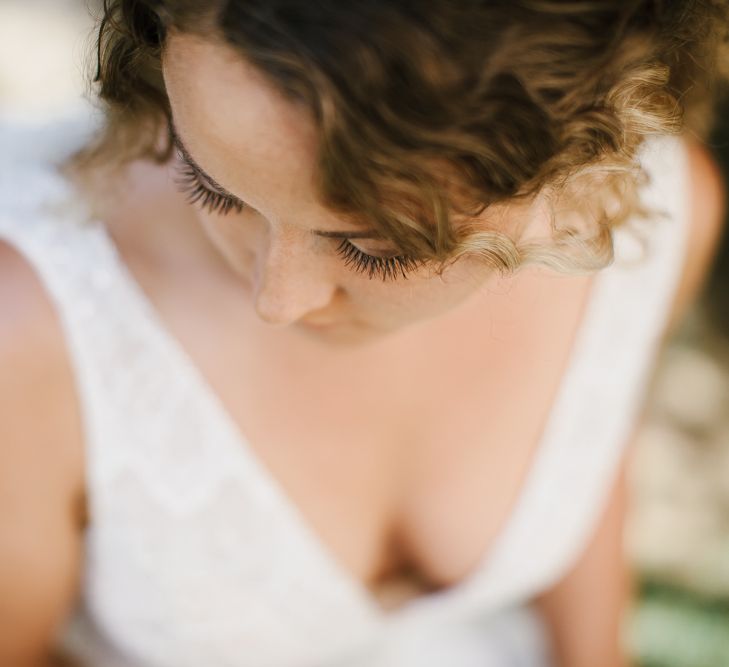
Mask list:
[[[593,270],[612,229],[648,213],[643,140],[709,129],[728,26],[726,0],[105,0],[106,123],[73,163],[171,159],[161,58],[176,29],[223,40],[302,105],[322,203],[403,254]],[[489,220],[537,195],[551,238]]]

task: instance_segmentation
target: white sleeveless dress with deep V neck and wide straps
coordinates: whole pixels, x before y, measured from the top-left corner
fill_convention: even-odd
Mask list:
[[[461,584],[383,612],[256,459],[54,171],[85,122],[58,134],[56,151],[53,132],[10,148],[18,135],[0,127],[0,238],[56,305],[83,411],[91,526],[67,644],[93,667],[549,665],[526,602],[579,556],[630,439],[685,251],[683,144],[646,147],[645,200],[668,215],[651,223],[640,261],[616,233],[617,260],[596,279],[495,546]]]

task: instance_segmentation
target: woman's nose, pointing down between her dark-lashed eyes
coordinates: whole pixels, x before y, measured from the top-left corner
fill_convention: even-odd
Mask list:
[[[256,262],[254,307],[268,324],[293,324],[326,308],[337,290],[311,251],[295,246],[295,239],[272,241]]]

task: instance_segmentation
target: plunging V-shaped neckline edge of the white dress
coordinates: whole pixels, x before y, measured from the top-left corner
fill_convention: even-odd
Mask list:
[[[522,476],[522,484],[517,492],[516,498],[511,504],[509,515],[502,523],[496,536],[489,542],[485,553],[479,558],[476,567],[456,584],[433,592],[417,595],[393,609],[386,609],[380,604],[376,595],[367,585],[351,573],[335,556],[273,472],[258,457],[254,447],[223,403],[222,398],[213,389],[182,342],[172,333],[152,299],[148,296],[124,261],[124,257],[106,225],[99,220],[94,220],[93,222],[95,225],[98,225],[102,232],[101,237],[107,246],[107,250],[114,259],[114,268],[119,273],[123,289],[127,291],[132,303],[140,308],[144,317],[152,325],[152,330],[159,343],[167,349],[168,353],[173,355],[175,363],[180,368],[185,369],[184,372],[187,375],[188,385],[199,395],[199,400],[207,404],[212,414],[218,418],[219,422],[228,432],[229,439],[234,444],[234,451],[230,453],[238,458],[246,467],[253,468],[258,480],[263,483],[269,496],[273,498],[277,507],[283,512],[284,518],[293,524],[292,529],[295,529],[304,537],[308,547],[313,551],[316,560],[322,563],[322,568],[328,571],[329,576],[336,579],[337,585],[343,585],[351,591],[352,595],[359,600],[359,604],[375,622],[395,623],[402,621],[419,608],[428,608],[434,605],[441,606],[447,600],[455,600],[467,594],[477,582],[482,583],[483,577],[488,576],[489,570],[492,569],[493,561],[497,558],[497,555],[508,551],[507,545],[510,536],[512,533],[518,532],[514,518],[516,511],[520,506],[528,503],[531,489],[535,486],[535,481],[540,477],[542,471],[547,467],[547,462],[550,460],[550,452],[555,448],[555,443],[549,441],[546,437],[551,430],[554,430],[550,429],[550,422],[556,413],[555,407],[563,400],[563,395],[569,391],[565,378],[572,376],[570,369],[579,363],[580,349],[583,347],[581,341],[593,329],[590,325],[594,317],[593,311],[597,307],[600,293],[603,289],[603,282],[607,279],[611,267],[608,267],[608,269],[603,270],[591,279],[592,282],[588,288],[588,294],[583,302],[580,322],[577,325],[576,331],[573,333],[572,347],[568,353],[566,363],[563,366],[560,382],[552,397],[547,419],[542,425],[541,435],[532,450],[532,456],[527,465],[527,470]]]

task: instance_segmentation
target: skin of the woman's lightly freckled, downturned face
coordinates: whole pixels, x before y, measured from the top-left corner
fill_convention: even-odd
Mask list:
[[[384,282],[355,272],[338,254],[338,239],[312,234],[357,230],[316,199],[315,129],[305,111],[221,43],[173,33],[163,72],[185,147],[249,205],[227,215],[198,207],[198,216],[264,322],[295,325],[332,342],[362,341],[441,316],[498,280],[475,257],[442,276],[420,267],[407,279]],[[382,241],[353,243],[373,255],[388,251]],[[337,326],[301,326],[307,322]]]

